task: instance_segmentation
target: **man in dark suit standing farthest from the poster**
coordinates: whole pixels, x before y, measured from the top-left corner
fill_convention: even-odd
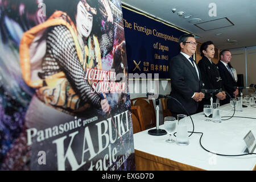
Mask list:
[[[228,63],[231,60],[231,52],[229,50],[223,50],[220,52],[220,61],[218,61],[217,67],[222,78],[222,83],[226,89],[226,92],[234,98],[238,95],[237,82],[234,79],[232,70],[230,69]],[[222,105],[228,104],[230,98],[226,97],[225,100],[221,102]]]

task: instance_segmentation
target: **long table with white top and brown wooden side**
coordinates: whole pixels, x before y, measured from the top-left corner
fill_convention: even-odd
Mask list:
[[[221,106],[221,117],[232,116],[232,106]],[[207,122],[203,113],[192,115],[195,131],[204,133],[201,144],[217,154],[245,154],[243,137],[251,130],[256,136],[256,108],[248,106],[236,111],[235,117],[221,123]],[[237,118],[251,117],[251,118]],[[192,122],[188,118],[188,130]],[[161,125],[160,129],[164,129]],[[137,170],[256,170],[256,155],[220,156],[200,146],[201,134],[192,134],[188,146],[166,142],[167,135],[153,136],[148,130],[134,134]],[[255,153],[255,151],[254,151]]]

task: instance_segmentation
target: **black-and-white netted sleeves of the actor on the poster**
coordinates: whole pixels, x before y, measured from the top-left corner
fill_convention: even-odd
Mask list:
[[[101,57],[104,57],[113,47],[113,25],[108,34],[103,34],[100,40]],[[90,102],[100,108],[101,97],[93,92],[92,86],[85,80],[86,71],[82,69],[77,56],[75,42],[68,28],[60,25],[49,28],[47,32],[46,56],[42,62],[42,71],[39,77],[44,79],[55,73],[63,71],[72,88],[81,98],[80,105]],[[84,47],[82,46],[84,52]]]

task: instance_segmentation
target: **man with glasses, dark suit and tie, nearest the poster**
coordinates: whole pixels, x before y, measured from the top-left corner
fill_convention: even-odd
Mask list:
[[[196,39],[192,34],[184,34],[179,38],[181,51],[172,57],[169,65],[171,77],[170,96],[176,98],[185,107],[189,114],[195,114],[198,102],[204,98],[201,90],[201,75],[192,55],[196,52]],[[186,114],[182,106],[175,100],[168,100],[167,107],[176,117],[177,114]]]

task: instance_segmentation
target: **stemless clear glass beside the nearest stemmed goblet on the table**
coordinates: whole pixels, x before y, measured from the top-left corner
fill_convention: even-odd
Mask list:
[[[187,146],[189,144],[188,130],[187,130],[187,115],[177,114],[177,138],[176,143],[180,146]]]

